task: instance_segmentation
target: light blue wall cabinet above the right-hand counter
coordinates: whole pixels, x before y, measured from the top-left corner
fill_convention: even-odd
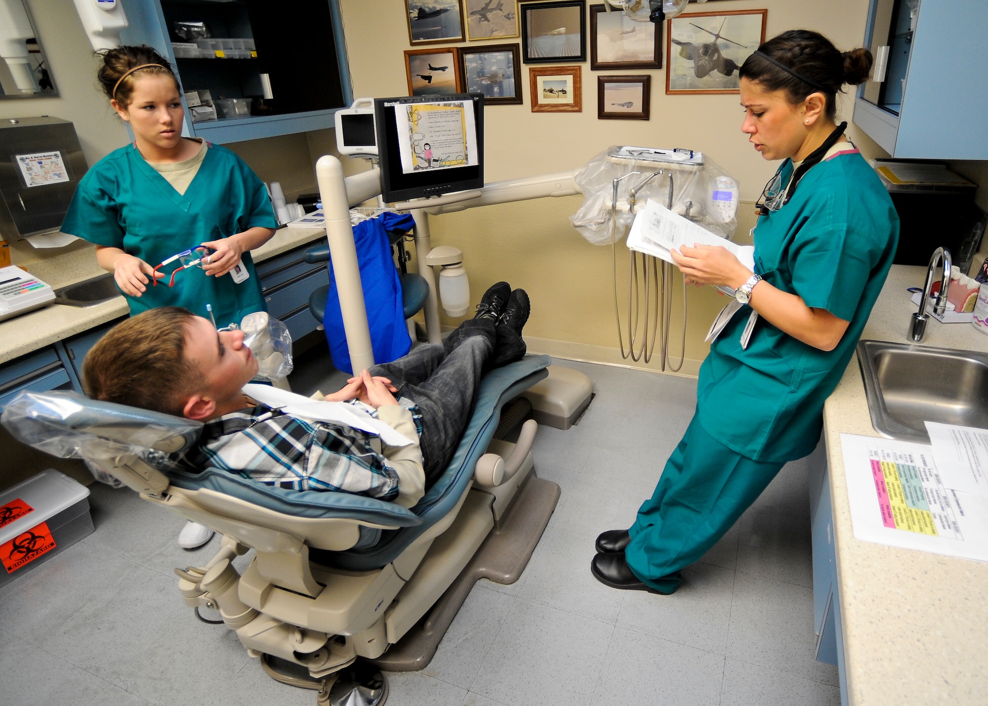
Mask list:
[[[893,157],[988,159],[988,2],[871,0],[854,121]]]

